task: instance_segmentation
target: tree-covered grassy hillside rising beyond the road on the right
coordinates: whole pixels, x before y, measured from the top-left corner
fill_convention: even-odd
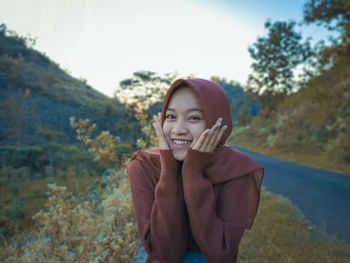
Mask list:
[[[350,6],[308,1],[304,23],[338,34],[332,44],[301,43],[294,22],[267,21],[268,34],[249,48],[254,72],[245,87],[262,100],[259,115],[229,140],[291,161],[350,173]],[[299,80],[296,67],[303,67]],[[297,91],[296,91],[297,90]]]

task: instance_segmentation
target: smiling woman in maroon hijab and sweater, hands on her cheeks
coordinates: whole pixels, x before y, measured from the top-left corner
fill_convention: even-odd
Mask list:
[[[263,167],[224,146],[232,130],[226,94],[208,80],[179,79],[153,126],[159,148],[137,151],[128,165],[146,262],[236,262]],[[199,261],[188,261],[193,255]]]

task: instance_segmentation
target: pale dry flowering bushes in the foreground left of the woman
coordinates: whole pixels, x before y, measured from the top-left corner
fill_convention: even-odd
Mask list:
[[[35,229],[6,242],[2,261],[130,262],[139,243],[125,168],[104,180],[97,203],[49,185]]]

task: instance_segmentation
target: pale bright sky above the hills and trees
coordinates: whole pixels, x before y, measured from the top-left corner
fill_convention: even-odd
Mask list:
[[[264,22],[301,21],[303,0],[0,0],[0,23],[37,37],[73,77],[112,96],[137,70],[245,84]],[[305,36],[323,31],[303,27]]]

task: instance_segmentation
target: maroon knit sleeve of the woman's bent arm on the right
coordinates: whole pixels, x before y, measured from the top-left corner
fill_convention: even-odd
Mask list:
[[[203,175],[213,153],[190,149],[182,168],[184,197],[194,238],[209,263],[236,262],[248,222],[248,176],[229,181],[216,200]]]

